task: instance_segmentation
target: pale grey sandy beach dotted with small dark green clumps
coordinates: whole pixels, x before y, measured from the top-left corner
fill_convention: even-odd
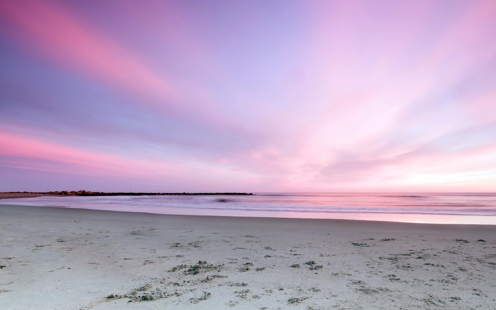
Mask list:
[[[496,226],[0,205],[0,237],[0,309],[496,309]]]

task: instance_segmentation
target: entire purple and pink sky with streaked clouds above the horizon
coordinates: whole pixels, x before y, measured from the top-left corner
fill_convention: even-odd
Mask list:
[[[496,1],[0,0],[0,191],[496,191]]]

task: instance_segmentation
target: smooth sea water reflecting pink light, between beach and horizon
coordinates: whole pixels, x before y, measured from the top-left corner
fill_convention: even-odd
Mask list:
[[[186,215],[496,224],[496,193],[257,193],[253,196],[42,196],[0,204]]]

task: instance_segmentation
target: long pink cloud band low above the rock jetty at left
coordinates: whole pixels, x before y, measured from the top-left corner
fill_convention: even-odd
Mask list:
[[[232,191],[241,191],[245,182],[258,180],[254,179],[253,173],[220,168],[205,162],[128,158],[1,130],[0,156],[0,166],[7,168],[93,177],[113,176],[123,180],[139,179],[140,183],[153,186],[155,190],[184,190],[187,186],[195,186],[197,191],[216,191],[217,186],[224,186]]]

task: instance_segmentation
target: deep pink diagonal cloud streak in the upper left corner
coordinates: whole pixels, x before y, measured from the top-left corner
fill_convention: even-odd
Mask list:
[[[150,64],[53,2],[6,1],[0,12],[19,27],[16,32],[8,28],[13,34],[26,36],[31,48],[53,62],[140,94],[162,100],[177,97],[167,78],[151,70]]]

